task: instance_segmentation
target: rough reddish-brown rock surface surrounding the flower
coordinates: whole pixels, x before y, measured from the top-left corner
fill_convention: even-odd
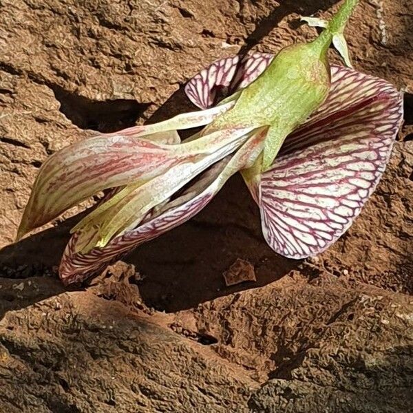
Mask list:
[[[335,7],[0,0],[1,413],[413,412],[410,0],[361,1],[351,19],[354,66],[405,92],[405,124],[377,191],[325,253],[273,253],[240,176],[83,286],[64,288],[56,265],[84,207],[12,244],[51,153],[193,109],[183,87],[200,68],[312,39],[299,14]],[[256,281],[227,287],[239,259]]]

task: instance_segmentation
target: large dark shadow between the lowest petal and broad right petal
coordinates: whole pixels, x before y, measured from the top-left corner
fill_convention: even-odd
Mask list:
[[[253,264],[257,282],[225,286],[223,273],[237,258]],[[301,263],[268,247],[260,213],[240,176],[195,218],[138,247],[128,262],[144,277],[139,289],[146,304],[168,312],[263,286]]]

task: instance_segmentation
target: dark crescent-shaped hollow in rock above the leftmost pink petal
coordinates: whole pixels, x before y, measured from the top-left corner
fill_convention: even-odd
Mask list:
[[[57,85],[52,85],[51,89],[61,103],[60,111],[74,125],[105,133],[136,125],[136,120],[151,105],[131,99],[92,100]]]

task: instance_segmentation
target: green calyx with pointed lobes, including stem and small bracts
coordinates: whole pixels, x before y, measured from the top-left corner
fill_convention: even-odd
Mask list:
[[[330,90],[328,47],[331,43],[351,65],[343,36],[346,23],[358,0],[346,0],[330,22],[306,18],[310,25],[324,28],[310,43],[285,47],[251,85],[242,90],[235,106],[214,120],[207,131],[227,125],[268,127],[264,151],[254,171],[271,167],[286,136],[315,112]],[[251,173],[246,173],[251,176]]]

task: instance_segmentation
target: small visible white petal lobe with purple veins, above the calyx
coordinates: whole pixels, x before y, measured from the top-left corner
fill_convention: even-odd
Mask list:
[[[191,78],[185,93],[194,105],[207,109],[214,105],[218,90],[231,94],[246,87],[264,72],[273,57],[273,54],[254,53],[215,61]]]

